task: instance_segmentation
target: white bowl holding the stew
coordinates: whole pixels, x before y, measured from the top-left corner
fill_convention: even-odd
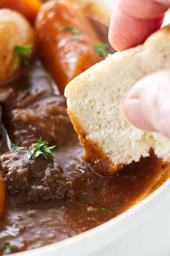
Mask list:
[[[110,13],[115,1],[102,2],[104,12]],[[168,21],[167,14],[164,24]],[[131,209],[96,228],[61,242],[15,254],[35,255],[169,256],[170,179]]]

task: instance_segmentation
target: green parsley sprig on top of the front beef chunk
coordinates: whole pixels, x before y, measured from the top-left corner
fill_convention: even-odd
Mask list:
[[[46,159],[48,158],[46,155],[48,155],[51,159],[53,159],[53,156],[51,154],[51,150],[54,149],[56,146],[47,147],[48,142],[47,141],[41,141],[42,138],[40,137],[37,141],[38,144],[36,144],[32,150],[29,151],[29,158],[32,157],[32,155],[35,154],[35,157],[38,157],[39,155],[43,155]]]

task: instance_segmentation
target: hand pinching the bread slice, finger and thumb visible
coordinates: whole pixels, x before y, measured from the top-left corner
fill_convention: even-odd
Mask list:
[[[116,50],[143,43],[162,25],[170,0],[119,0],[113,10],[109,41]],[[128,119],[140,129],[170,138],[170,70],[139,80],[125,101]]]

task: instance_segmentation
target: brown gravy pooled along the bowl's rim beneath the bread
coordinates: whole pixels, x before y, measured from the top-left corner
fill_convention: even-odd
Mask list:
[[[76,200],[61,206],[11,208],[7,205],[0,222],[1,243],[10,243],[12,252],[54,243],[94,228],[121,214],[148,196],[154,186],[169,177],[170,164],[154,156],[125,166],[112,178],[96,175],[83,161],[78,139],[58,148],[54,157],[73,182]]]

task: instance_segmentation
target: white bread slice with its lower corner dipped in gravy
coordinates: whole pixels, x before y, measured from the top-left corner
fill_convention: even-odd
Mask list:
[[[68,113],[85,149],[84,160],[100,174],[170,151],[170,140],[133,126],[124,112],[129,89],[140,78],[170,68],[170,26],[152,34],[143,45],[107,57],[72,80],[65,89]]]

